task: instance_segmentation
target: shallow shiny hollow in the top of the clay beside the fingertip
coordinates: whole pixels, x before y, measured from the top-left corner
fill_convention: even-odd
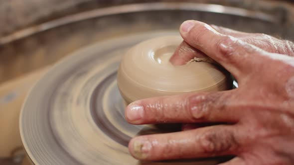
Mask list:
[[[154,60],[158,64],[167,64],[169,63],[169,59],[175,51],[177,45],[170,45],[159,48],[154,51]]]

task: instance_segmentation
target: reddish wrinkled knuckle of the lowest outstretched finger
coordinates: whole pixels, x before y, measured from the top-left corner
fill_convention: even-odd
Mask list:
[[[202,150],[210,155],[230,153],[238,146],[234,133],[228,130],[205,132],[199,141]]]

